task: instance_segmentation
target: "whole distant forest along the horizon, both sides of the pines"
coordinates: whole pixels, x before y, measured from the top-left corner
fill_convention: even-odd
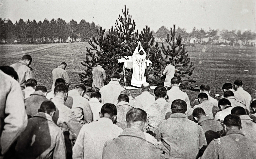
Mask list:
[[[94,36],[98,37],[97,30],[100,28],[95,23],[89,23],[81,20],[79,23],[73,19],[69,22],[61,18],[52,19],[48,21],[45,19],[43,22],[36,20],[24,21],[20,19],[13,23],[11,20],[0,18],[0,42],[1,43],[56,43],[66,42],[68,37],[71,42],[76,41],[89,41]],[[256,33],[251,30],[241,32],[240,30],[226,30],[221,31],[209,28],[209,30],[196,29],[193,27],[192,32],[187,32],[185,28],[178,27],[176,32],[181,34],[185,42],[189,42],[195,38],[196,43],[205,43],[204,38],[208,38],[206,42],[213,43],[229,43],[229,44],[250,44],[250,40],[255,40]],[[105,32],[105,35],[108,31]],[[170,30],[165,26],[161,26],[153,35],[156,38],[167,38]],[[177,35],[178,35],[177,34]],[[77,40],[79,38],[79,40]],[[160,42],[159,41],[159,42]],[[228,41],[228,42],[227,42]],[[254,42],[255,43],[255,42]]]

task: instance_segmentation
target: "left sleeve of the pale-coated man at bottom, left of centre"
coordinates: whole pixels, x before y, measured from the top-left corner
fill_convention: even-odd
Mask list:
[[[78,137],[77,137],[74,147],[72,149],[73,150],[73,155],[72,155],[73,159],[83,158],[83,151],[84,151],[83,143],[84,143],[84,131],[82,128],[78,134]]]

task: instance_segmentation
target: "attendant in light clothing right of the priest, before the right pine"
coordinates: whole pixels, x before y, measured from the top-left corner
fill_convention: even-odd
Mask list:
[[[164,85],[166,88],[171,87],[171,79],[174,78],[175,67],[171,65],[169,61],[166,62],[165,70],[163,71],[163,75],[166,76]]]

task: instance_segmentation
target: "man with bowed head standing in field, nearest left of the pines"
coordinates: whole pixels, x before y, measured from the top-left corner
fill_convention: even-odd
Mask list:
[[[53,72],[52,72],[52,78],[53,78],[52,90],[54,90],[54,84],[55,84],[56,79],[59,79],[59,78],[64,79],[67,87],[69,86],[70,79],[65,70],[66,67],[67,67],[67,64],[65,62],[63,62],[63,63],[61,63],[60,66],[58,66],[56,69],[53,70]]]

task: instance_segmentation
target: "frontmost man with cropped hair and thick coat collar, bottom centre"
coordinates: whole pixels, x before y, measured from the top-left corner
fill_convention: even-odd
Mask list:
[[[143,131],[147,127],[147,113],[133,108],[126,114],[127,128],[117,138],[107,141],[103,159],[159,159],[161,150],[147,142]]]

